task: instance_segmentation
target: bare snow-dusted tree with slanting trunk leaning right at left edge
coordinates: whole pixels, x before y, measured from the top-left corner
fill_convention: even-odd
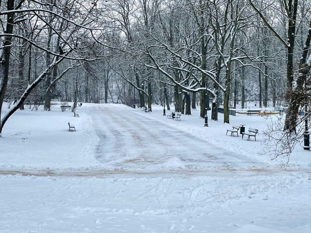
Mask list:
[[[87,60],[89,57],[86,56],[85,50],[87,47],[81,47],[81,38],[83,36],[90,36],[91,31],[94,29],[93,26],[96,25],[96,15],[94,14],[95,6],[90,5],[89,7],[81,6],[81,4],[76,0],[71,0],[72,8],[68,9],[65,5],[66,1],[58,0],[57,4],[55,1],[38,2],[35,0],[29,0],[27,4],[25,0],[20,0],[15,3],[15,0],[8,0],[6,9],[4,6],[0,5],[1,9],[0,17],[2,20],[1,27],[2,32],[0,33],[0,110],[3,105],[3,100],[6,93],[7,84],[9,82],[9,67],[10,67],[10,55],[11,50],[14,48],[12,43],[15,39],[24,39],[27,44],[31,44],[38,50],[51,55],[50,63],[48,66],[43,68],[35,78],[27,86],[24,87],[23,94],[17,101],[17,104],[10,109],[10,111],[1,118],[0,115],[0,136],[5,122],[10,116],[19,108],[24,100],[29,96],[32,90],[41,83],[48,75],[51,74],[54,67],[57,67],[64,59],[72,60]],[[55,3],[55,4],[54,4]],[[52,9],[50,8],[51,6]],[[57,6],[57,7],[56,7]],[[76,10],[76,11],[74,11]],[[62,15],[62,12],[67,11],[66,16]],[[78,13],[79,12],[79,13]],[[57,29],[52,26],[49,19],[46,20],[46,14],[52,15],[55,20],[66,21],[69,23],[67,27],[68,37],[64,37],[57,32]],[[62,44],[62,49],[50,50],[49,47],[45,47],[39,40],[30,40],[25,37],[25,33],[18,33],[15,31],[16,25],[19,25],[23,21],[31,17],[31,23],[38,23],[42,28],[48,31],[54,32],[58,37],[60,37],[60,43]],[[29,27],[34,31],[34,33],[42,32],[41,28],[35,28],[34,26]],[[96,29],[99,29],[98,27]],[[51,37],[52,39],[52,37]],[[57,44],[57,43],[56,43]],[[48,43],[48,46],[50,44]],[[55,77],[55,76],[54,76]],[[1,112],[1,111],[0,111]]]

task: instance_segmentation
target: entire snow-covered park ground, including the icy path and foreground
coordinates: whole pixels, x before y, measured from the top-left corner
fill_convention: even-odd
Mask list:
[[[199,110],[175,121],[160,106],[53,106],[3,129],[0,233],[311,231],[311,151],[298,145],[287,169],[260,153],[276,116],[230,116],[259,129],[255,142],[225,135],[222,114],[203,127]]]

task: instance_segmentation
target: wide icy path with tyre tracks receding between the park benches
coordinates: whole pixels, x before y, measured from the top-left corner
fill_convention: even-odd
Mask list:
[[[113,106],[97,105],[89,110],[99,137],[95,157],[105,165],[143,171],[250,166],[249,159],[227,151],[225,145],[215,147],[189,133]]]

